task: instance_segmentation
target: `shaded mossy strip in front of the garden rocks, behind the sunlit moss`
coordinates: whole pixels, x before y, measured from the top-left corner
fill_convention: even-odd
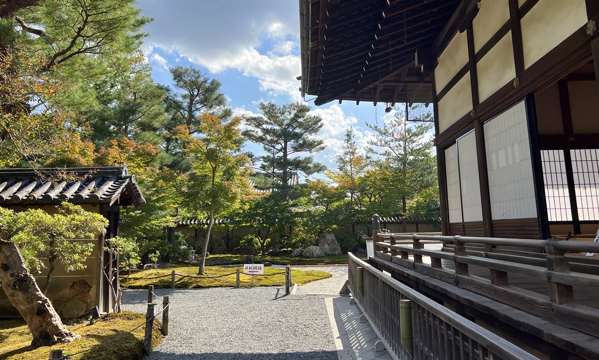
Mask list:
[[[206,258],[206,265],[232,265],[243,264],[247,255],[211,254]],[[347,264],[347,254],[326,255],[322,258],[290,258],[285,256],[256,255],[252,259],[255,263],[269,262],[275,265],[336,265]]]

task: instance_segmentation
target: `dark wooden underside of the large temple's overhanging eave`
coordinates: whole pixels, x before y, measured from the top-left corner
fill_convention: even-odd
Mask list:
[[[300,0],[302,96],[432,102],[430,49],[460,0]]]

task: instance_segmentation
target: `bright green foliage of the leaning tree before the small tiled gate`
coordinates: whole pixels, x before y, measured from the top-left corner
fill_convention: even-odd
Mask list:
[[[93,243],[72,239],[93,239],[104,233],[108,221],[81,206],[63,203],[52,215],[41,209],[0,208],[0,224],[0,236],[17,244],[29,269],[45,267],[40,258],[47,254],[60,260],[66,271],[73,271],[86,267]]]

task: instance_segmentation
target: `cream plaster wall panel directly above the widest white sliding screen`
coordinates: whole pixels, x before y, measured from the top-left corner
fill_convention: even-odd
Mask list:
[[[505,84],[512,82],[516,77],[516,65],[511,31],[507,32],[507,35],[503,36],[497,45],[480,59],[476,64],[476,72],[479,77],[480,102]]]

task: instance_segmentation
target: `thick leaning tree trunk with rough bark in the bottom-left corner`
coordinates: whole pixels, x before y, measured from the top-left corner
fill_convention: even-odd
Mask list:
[[[68,331],[50,300],[40,291],[34,277],[25,267],[19,248],[13,242],[0,240],[0,276],[2,289],[10,303],[19,310],[33,335],[31,346],[70,343],[79,338]]]

